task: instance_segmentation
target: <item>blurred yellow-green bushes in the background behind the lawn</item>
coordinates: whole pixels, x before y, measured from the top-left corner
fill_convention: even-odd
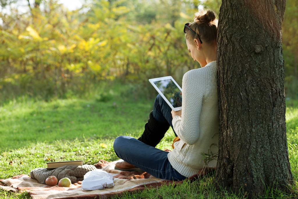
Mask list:
[[[69,11],[57,0],[35,0],[20,13],[11,6],[14,1],[0,2],[9,10],[0,13],[0,104],[22,95],[82,96],[114,79],[138,83],[148,93],[149,78],[172,75],[180,83],[186,71],[199,67],[187,51],[184,24],[198,7],[218,13],[221,5],[218,0],[94,0]],[[297,1],[288,0],[283,48],[291,98],[298,97],[297,15]],[[98,100],[110,94],[101,95]]]

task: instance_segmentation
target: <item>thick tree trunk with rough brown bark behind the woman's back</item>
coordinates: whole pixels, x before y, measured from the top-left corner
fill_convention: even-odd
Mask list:
[[[217,38],[217,189],[251,198],[292,180],[285,128],[285,0],[223,0]],[[278,183],[278,184],[277,184]]]

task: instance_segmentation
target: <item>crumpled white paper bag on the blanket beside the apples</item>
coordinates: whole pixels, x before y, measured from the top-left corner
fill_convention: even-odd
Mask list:
[[[114,186],[113,176],[106,171],[94,170],[84,175],[83,190],[105,189]]]

